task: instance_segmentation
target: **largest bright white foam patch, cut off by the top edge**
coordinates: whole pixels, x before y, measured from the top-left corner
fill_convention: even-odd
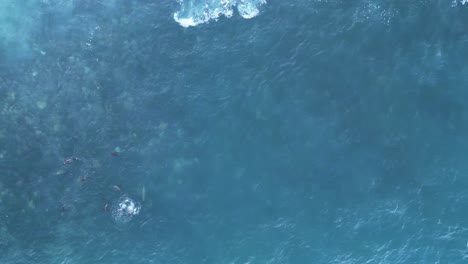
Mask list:
[[[181,6],[174,20],[183,27],[193,27],[221,16],[230,18],[237,10],[245,19],[256,17],[266,0],[177,0]]]

